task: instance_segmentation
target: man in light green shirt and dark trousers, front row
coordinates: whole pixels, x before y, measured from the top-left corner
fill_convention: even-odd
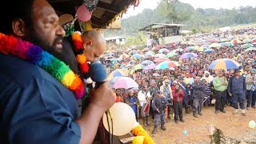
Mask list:
[[[226,77],[223,76],[222,70],[218,70],[218,76],[213,80],[214,84],[214,94],[215,94],[215,114],[218,114],[219,111],[226,113],[224,110],[225,106],[225,96],[226,96],[226,88],[227,88],[227,80]]]

